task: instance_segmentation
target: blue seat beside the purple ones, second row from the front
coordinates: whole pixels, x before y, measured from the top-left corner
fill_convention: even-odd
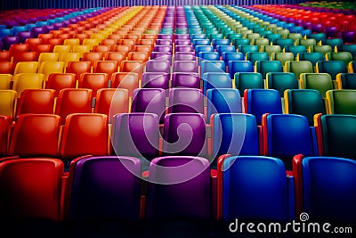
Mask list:
[[[219,91],[221,90],[211,91],[220,93]],[[220,98],[217,98],[217,100]],[[223,98],[223,100],[224,99],[225,98]],[[260,144],[255,116],[251,114],[235,113],[233,105],[228,105],[231,101],[229,100],[225,102],[226,106],[230,106],[228,110],[231,111],[231,113],[223,112],[214,114],[211,119],[213,132],[212,157],[218,158],[223,154],[259,155]],[[236,100],[234,102],[236,102]],[[239,105],[236,106],[236,109],[238,109],[238,106]],[[226,109],[226,107],[219,108],[221,111],[226,111],[224,109]]]

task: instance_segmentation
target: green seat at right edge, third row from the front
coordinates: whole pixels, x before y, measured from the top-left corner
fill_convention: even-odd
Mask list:
[[[335,89],[327,92],[328,114],[356,115],[356,90]]]

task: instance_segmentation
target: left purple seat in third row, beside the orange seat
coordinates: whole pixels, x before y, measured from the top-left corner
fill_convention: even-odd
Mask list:
[[[134,89],[132,112],[146,112],[158,115],[159,123],[164,122],[166,112],[166,92],[161,88]]]

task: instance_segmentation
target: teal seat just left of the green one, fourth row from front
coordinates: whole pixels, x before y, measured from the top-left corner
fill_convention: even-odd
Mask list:
[[[267,88],[279,91],[280,97],[284,97],[287,89],[298,89],[299,81],[295,79],[294,73],[271,72],[267,73]]]

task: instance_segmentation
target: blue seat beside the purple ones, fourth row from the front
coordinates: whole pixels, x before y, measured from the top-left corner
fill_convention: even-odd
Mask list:
[[[232,88],[230,74],[223,72],[207,72],[202,76],[203,79],[203,94],[206,95],[206,90],[212,88]]]

